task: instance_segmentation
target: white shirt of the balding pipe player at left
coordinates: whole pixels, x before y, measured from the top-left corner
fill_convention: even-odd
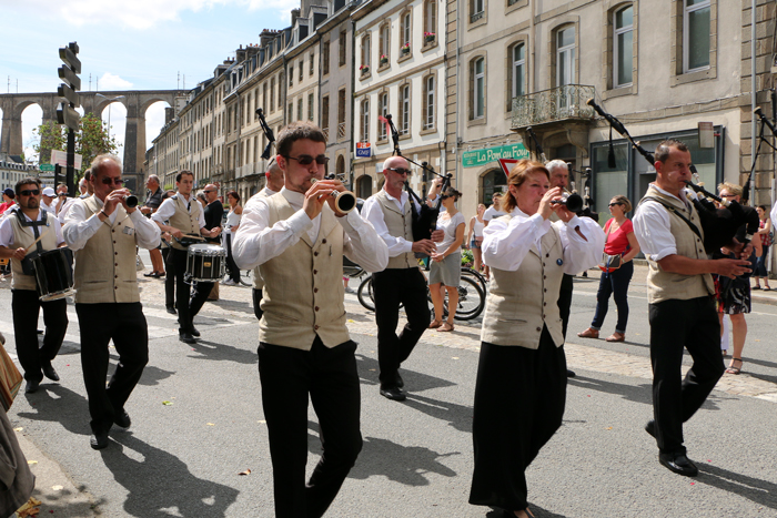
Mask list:
[[[102,200],[97,196],[94,196],[94,200],[97,200],[99,206],[103,206]],[[117,207],[117,210],[108,216],[111,225],[115,222],[118,212]],[[102,222],[100,221],[99,214],[100,213],[92,214],[87,217],[85,200],[78,200],[70,206],[64,219],[64,230],[62,233],[64,235],[64,241],[73,252],[87,246],[87,242],[100,230]],[[149,250],[159,246],[161,234],[159,226],[138,210],[129,214],[129,216],[135,227],[135,243],[138,246]]]

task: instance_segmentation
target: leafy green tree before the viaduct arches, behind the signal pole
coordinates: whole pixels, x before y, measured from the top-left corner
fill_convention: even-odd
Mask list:
[[[51,150],[67,151],[67,126],[50,121],[32,131],[40,136],[40,142],[34,144],[32,149],[38,153],[41,163],[50,160]],[[118,149],[119,144],[115,138],[108,132],[108,124],[93,113],[83,115],[75,132],[75,152],[82,156],[81,170],[75,171],[75,181],[83,176],[94,156],[103,153],[115,153]]]

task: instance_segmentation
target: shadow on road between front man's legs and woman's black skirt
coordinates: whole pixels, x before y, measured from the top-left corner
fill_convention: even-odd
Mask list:
[[[456,476],[456,471],[440,463],[440,459],[453,455],[461,454],[438,454],[421,446],[402,446],[386,439],[365,437],[362,453],[349,478],[367,479],[372,476],[384,476],[406,486],[428,486],[426,474]]]

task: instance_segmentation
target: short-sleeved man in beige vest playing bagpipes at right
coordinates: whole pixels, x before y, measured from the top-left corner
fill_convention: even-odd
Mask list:
[[[686,199],[689,166],[690,152],[684,143],[658,144],[656,181],[639,202],[633,223],[649,267],[654,419],[645,430],[656,438],[663,466],[695,477],[698,468],[686,456],[683,423],[704,404],[725,370],[710,274],[734,278],[749,272],[750,263],[707,258],[699,216]],[[746,250],[745,256],[749,253]],[[683,347],[694,365],[680,380]]]

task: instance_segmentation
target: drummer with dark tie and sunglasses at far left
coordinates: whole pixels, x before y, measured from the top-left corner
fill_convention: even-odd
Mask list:
[[[64,246],[60,223],[48,211],[40,210],[40,181],[28,177],[17,182],[18,205],[9,211],[0,223],[0,258],[11,260],[11,309],[13,312],[13,334],[17,355],[24,370],[27,394],[38,390],[43,375],[59,382],[59,375],[51,360],[62,346],[68,329],[67,302],[41,302],[37,291],[36,276],[24,274],[21,261],[26,255]],[[53,231],[53,232],[52,232]],[[40,240],[38,240],[40,237]],[[38,242],[36,243],[36,240]],[[43,309],[46,334],[43,347],[38,348],[38,314]],[[42,374],[41,374],[42,370]]]

